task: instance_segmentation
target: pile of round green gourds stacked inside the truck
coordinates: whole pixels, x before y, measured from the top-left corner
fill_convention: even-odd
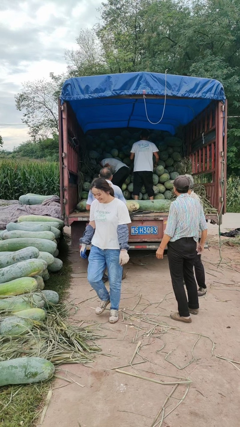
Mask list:
[[[90,184],[94,178],[98,177],[101,166],[99,162],[103,158],[116,158],[130,168],[130,174],[124,184],[122,191],[126,200],[133,199],[133,162],[130,161],[130,151],[133,144],[140,139],[140,130],[132,129],[107,129],[106,132],[99,132],[98,135],[85,136],[87,151],[87,164],[83,166],[83,182],[80,202],[77,205],[78,211],[86,210],[87,197]],[[173,184],[179,173],[179,164],[182,160],[183,142],[178,137],[173,137],[169,132],[152,131],[150,133],[152,141],[159,149],[159,162],[153,170],[153,190],[154,199],[171,200],[173,197]],[[153,163],[155,158],[153,158]],[[145,187],[141,188],[139,200],[148,200]]]

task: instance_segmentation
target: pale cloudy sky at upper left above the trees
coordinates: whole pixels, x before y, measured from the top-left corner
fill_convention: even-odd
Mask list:
[[[3,149],[29,139],[15,108],[21,83],[66,70],[64,49],[97,22],[101,0],[0,0],[0,134]]]

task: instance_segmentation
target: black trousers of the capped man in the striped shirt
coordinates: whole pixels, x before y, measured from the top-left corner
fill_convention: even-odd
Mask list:
[[[173,292],[178,304],[180,316],[189,316],[188,308],[199,308],[197,284],[194,278],[194,262],[197,243],[193,237],[182,237],[168,243],[168,263],[172,279]],[[183,286],[186,284],[188,299]]]

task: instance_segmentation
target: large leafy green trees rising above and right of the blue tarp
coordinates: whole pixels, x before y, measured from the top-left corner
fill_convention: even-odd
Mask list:
[[[114,72],[146,70],[220,80],[240,116],[239,0],[108,0],[96,28]],[[240,120],[228,120],[228,172],[240,170]]]

